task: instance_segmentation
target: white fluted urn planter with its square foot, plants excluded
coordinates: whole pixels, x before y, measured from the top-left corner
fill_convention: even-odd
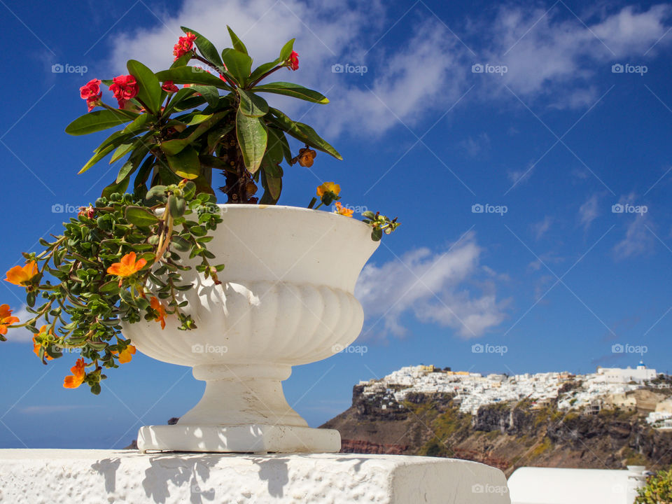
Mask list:
[[[147,450],[231,452],[339,451],[337,430],[309,428],[288,405],[281,381],[294,365],[332,356],[358,337],[363,311],[353,296],[377,248],[371,229],[327,211],[221,205],[211,232],[211,264],[226,265],[220,285],[184,272],[197,329],[167,319],[126,324],[147,356],[193,367],[207,383],[202,399],[172,426],[145,426]],[[171,323],[172,322],[172,323]],[[307,384],[307,387],[309,384]],[[179,413],[179,412],[176,412]]]

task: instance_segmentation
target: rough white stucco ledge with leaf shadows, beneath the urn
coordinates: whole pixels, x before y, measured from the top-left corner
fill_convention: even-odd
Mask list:
[[[1,449],[7,503],[510,504],[503,472],[451,458]]]

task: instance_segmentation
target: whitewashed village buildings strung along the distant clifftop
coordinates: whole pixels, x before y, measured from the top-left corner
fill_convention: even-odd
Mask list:
[[[360,381],[363,395],[382,409],[402,408],[409,393],[450,393],[461,412],[498,402],[531,401],[532,408],[557,400],[561,410],[596,414],[603,407],[647,411],[653,428],[672,430],[670,381],[640,362],[636,367],[598,367],[596,372],[486,374],[444,370],[433,365],[402,367],[382,379]],[[653,391],[652,391],[653,390]],[[658,393],[656,391],[659,391]]]

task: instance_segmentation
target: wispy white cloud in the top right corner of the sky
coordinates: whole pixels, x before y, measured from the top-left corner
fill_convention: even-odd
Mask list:
[[[636,12],[627,6],[583,21],[562,4],[549,11],[502,7],[489,29],[493,43],[487,58],[507,66],[500,80],[522,97],[542,97],[554,108],[590,106],[604,91],[591,79],[610,72],[611,62],[645,59],[643,52],[659,38],[661,48],[672,41],[664,37],[670,10],[659,5]],[[490,83],[500,87],[497,80]]]

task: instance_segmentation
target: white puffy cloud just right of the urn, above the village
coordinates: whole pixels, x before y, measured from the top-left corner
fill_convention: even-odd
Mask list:
[[[496,299],[491,281],[479,278],[482,272],[492,276],[479,267],[481,251],[470,233],[446,251],[417,248],[400,260],[367,265],[355,290],[369,317],[364,334],[405,335],[401,318],[408,313],[462,337],[496,327],[505,318],[507,302]]]

